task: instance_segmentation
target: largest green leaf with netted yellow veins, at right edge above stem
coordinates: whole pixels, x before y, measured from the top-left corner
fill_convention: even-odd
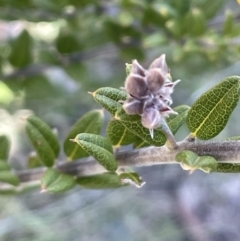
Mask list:
[[[187,125],[193,136],[208,140],[218,135],[239,100],[239,76],[232,76],[203,94],[188,112]]]

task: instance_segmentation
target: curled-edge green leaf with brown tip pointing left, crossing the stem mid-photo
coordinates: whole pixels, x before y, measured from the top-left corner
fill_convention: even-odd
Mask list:
[[[95,134],[82,133],[77,135],[74,141],[89,155],[93,156],[106,170],[117,170],[118,165],[109,139]]]

